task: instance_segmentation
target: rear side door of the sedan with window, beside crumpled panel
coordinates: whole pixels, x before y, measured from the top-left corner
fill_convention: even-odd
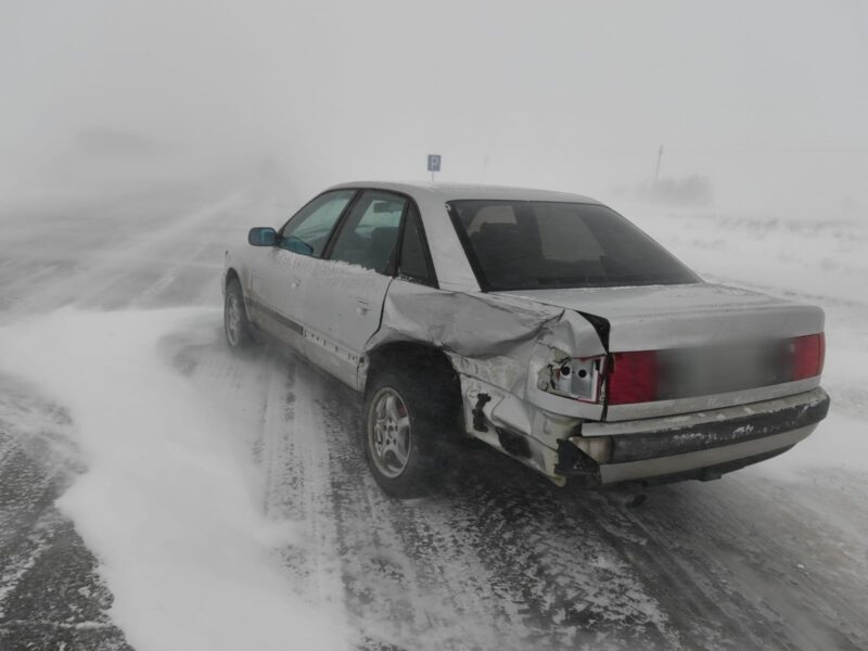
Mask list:
[[[380,328],[410,205],[399,194],[363,191],[305,285],[306,355],[354,387],[365,345]]]

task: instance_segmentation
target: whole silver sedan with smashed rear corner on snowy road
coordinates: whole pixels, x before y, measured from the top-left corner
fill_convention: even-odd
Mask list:
[[[712,480],[808,436],[820,308],[704,282],[601,203],[347,183],[226,254],[229,346],[267,335],[365,395],[380,486],[413,497],[477,438],[601,486]]]

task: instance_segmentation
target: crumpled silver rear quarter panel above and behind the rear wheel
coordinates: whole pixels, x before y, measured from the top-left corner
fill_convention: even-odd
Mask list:
[[[538,374],[563,353],[604,355],[593,327],[579,314],[519,296],[450,292],[396,279],[383,305],[380,330],[366,352],[393,342],[414,342],[443,350],[461,380],[468,433],[474,431],[476,396],[487,422],[557,448],[557,439],[575,426],[576,419],[599,420],[602,406],[546,393]],[[359,384],[363,384],[360,378]],[[544,470],[546,460],[529,464]]]

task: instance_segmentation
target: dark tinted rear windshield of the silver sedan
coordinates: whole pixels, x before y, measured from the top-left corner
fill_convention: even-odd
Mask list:
[[[701,282],[624,217],[596,204],[447,204],[485,291]]]

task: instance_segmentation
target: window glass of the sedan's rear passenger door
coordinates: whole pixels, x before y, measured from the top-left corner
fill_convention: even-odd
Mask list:
[[[365,192],[341,227],[329,257],[391,273],[406,207],[407,200],[397,194]]]

